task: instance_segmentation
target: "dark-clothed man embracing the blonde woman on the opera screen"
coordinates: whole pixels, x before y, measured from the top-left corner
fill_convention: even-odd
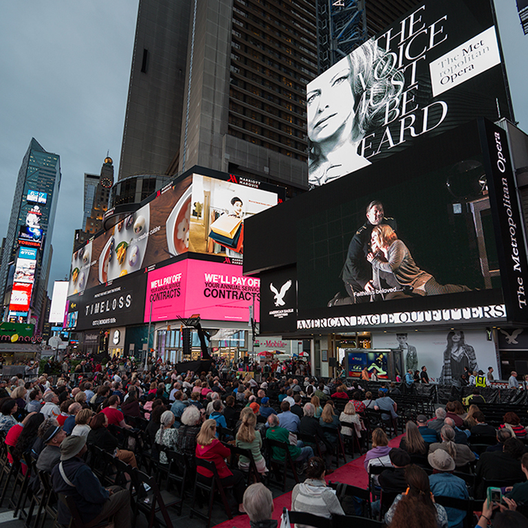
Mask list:
[[[348,296],[338,292],[328,306],[366,303],[374,293],[372,267],[366,256],[371,253],[371,233],[376,225],[390,225],[396,230],[396,221],[384,216],[383,204],[373,200],[366,208],[366,222],[355,232],[349,244],[347,260],[344,263],[341,278]]]

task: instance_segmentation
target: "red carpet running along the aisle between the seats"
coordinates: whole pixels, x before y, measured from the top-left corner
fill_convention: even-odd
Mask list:
[[[403,437],[403,434],[400,434],[399,437],[393,438],[388,443],[388,445],[390,445],[391,448],[397,448],[399,446],[399,441],[401,440],[401,437]],[[364,459],[365,455],[362,455],[358,459],[354,459],[353,461],[342,465],[333,473],[329,474],[329,476],[327,476],[327,482],[342,482],[345,484],[350,484],[366,489],[369,483],[369,478],[363,466]],[[292,492],[287,492],[283,495],[278,496],[276,499],[274,499],[273,503],[273,518],[280,519],[281,515],[283,514],[283,508],[286,507],[287,509],[289,509],[290,507],[292,507]],[[250,518],[247,515],[239,515],[230,520],[221,522],[214,528],[250,528]]]

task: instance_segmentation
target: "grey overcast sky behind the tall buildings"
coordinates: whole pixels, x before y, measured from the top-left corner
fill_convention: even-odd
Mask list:
[[[109,151],[117,178],[137,3],[0,3],[0,237],[7,233],[23,155],[35,137],[61,156],[50,294],[53,281],[69,272],[74,230],[83,217],[84,173],[99,174]],[[528,36],[515,0],[496,0],[496,8],[516,120],[528,131]]]

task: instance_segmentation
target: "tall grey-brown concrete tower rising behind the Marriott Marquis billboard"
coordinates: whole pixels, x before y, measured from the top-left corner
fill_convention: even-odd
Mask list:
[[[194,165],[307,187],[307,0],[140,0],[119,179]]]

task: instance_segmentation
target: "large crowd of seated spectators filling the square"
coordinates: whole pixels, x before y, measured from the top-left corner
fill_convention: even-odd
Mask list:
[[[23,391],[17,382],[8,397],[0,399],[0,431],[5,432],[4,441],[12,448],[12,456],[20,461],[25,456],[36,459],[37,468],[50,472],[56,490],[73,494],[81,514],[94,522],[119,512],[122,520],[115,525],[125,526],[124,520],[130,518],[126,510],[130,495],[126,489],[109,492],[88,478],[85,451],[95,445],[138,467],[141,462],[136,456],[140,452],[135,441],[139,437],[133,437],[138,430],[144,432],[142,441],[152,449],[156,463],[168,463],[166,449],[184,454],[188,461],[214,463],[221,484],[232,489],[241,513],[244,472],[250,464],[254,462],[258,474],[267,475],[272,471],[268,461],[285,457],[283,449],[266,448],[270,439],[285,446],[298,474],[306,477],[293,489],[292,510],[326,517],[342,515],[342,505],[325,477],[333,471],[341,437],[362,438],[367,434],[371,449],[364,457],[365,471],[384,466],[377,472],[371,511],[391,527],[423,527],[428,522],[461,527],[460,510],[433,500],[434,495],[469,496],[459,472],[474,476],[470,491],[475,498],[485,496],[485,481],[503,481],[507,483],[503,490],[506,498],[518,505],[528,503],[528,458],[522,441],[526,430],[511,411],[495,428],[476,404],[465,412],[461,402],[450,401],[430,416],[419,414],[408,421],[396,448],[389,445],[386,431],[405,409],[393,399],[399,395],[392,386],[382,386],[373,397],[371,391],[357,384],[348,386],[342,380],[325,384],[308,377],[287,380],[270,376],[257,382],[248,375],[221,379],[214,373],[178,374],[170,369],[162,372],[161,368],[127,375],[116,371],[115,366],[113,371],[106,369],[87,378],[43,377],[30,386],[24,384]],[[368,433],[371,410],[380,412],[382,423]],[[123,437],[129,443],[123,443]],[[475,453],[479,438],[495,441]],[[250,459],[239,457],[238,469],[228,466],[231,451],[226,442],[251,453]],[[61,463],[67,480],[58,469]],[[22,468],[23,472],[28,470]],[[199,479],[210,481],[211,474],[204,467],[198,466],[196,471]],[[87,481],[79,485],[81,478]],[[38,487],[35,475],[32,481]],[[265,500],[265,491],[262,487],[258,490],[253,496]],[[394,496],[388,508],[382,507],[383,492]],[[67,516],[61,506],[59,519],[66,520]],[[269,518],[258,518],[252,523],[266,520]]]

